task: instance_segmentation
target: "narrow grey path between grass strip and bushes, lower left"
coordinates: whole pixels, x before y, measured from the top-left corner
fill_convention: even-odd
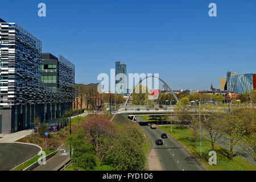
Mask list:
[[[55,156],[48,159],[46,164],[41,164],[36,167],[33,171],[55,171],[57,167],[60,166],[65,160],[69,158],[69,148],[61,146]]]

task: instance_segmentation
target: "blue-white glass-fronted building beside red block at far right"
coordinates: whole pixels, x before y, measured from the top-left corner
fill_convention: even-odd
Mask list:
[[[256,89],[256,74],[238,74],[237,72],[228,72],[227,89],[234,94],[243,94]]]

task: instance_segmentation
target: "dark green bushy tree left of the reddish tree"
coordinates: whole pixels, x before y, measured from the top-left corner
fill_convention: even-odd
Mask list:
[[[92,143],[89,143],[82,130],[78,130],[75,135],[69,135],[65,140],[65,146],[71,146],[73,148],[71,160],[75,166],[90,169],[96,166]]]

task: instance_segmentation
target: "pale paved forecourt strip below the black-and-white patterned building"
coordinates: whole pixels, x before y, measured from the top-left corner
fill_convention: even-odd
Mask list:
[[[30,135],[32,130],[23,130],[12,134],[0,134],[0,143],[14,143],[16,140],[19,140],[27,135]]]

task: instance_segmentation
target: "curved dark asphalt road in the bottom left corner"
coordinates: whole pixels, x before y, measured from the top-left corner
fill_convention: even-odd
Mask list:
[[[38,155],[39,147],[22,143],[0,143],[0,171],[10,171]]]

